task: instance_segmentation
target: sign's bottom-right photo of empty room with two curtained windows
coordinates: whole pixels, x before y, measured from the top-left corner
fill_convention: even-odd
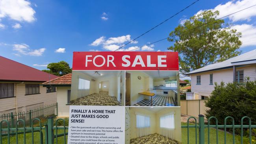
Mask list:
[[[125,109],[125,144],[180,144],[180,107]]]

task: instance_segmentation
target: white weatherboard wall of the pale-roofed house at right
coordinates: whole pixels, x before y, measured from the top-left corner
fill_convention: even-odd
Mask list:
[[[250,80],[256,80],[256,65],[238,67],[236,70],[244,71],[244,78],[250,77]],[[210,85],[210,74],[213,74],[213,85]],[[197,85],[197,76],[201,76],[201,85]],[[212,72],[204,72],[191,75],[191,92],[198,92],[199,96],[210,96],[214,90],[214,83],[220,84],[233,82],[233,68],[225,70],[217,70]]]

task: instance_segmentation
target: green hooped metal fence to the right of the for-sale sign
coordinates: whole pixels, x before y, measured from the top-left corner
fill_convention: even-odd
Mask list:
[[[189,142],[191,142],[189,140],[189,128],[195,128],[195,144],[197,144],[199,142],[199,144],[204,144],[205,142],[205,128],[208,128],[208,144],[210,144],[210,129],[214,128],[216,129],[216,141],[215,144],[219,144],[219,135],[218,132],[224,129],[224,144],[226,144],[226,133],[227,133],[227,128],[230,128],[230,130],[232,130],[232,143],[235,144],[235,128],[239,128],[241,129],[241,133],[240,133],[240,137],[241,137],[241,144],[243,144],[243,130],[245,128],[249,128],[249,144],[252,144],[252,128],[256,128],[256,125],[251,125],[251,120],[248,116],[244,116],[243,118],[241,118],[241,125],[235,125],[234,123],[234,118],[232,118],[231,116],[227,116],[224,119],[224,125],[218,125],[218,120],[216,117],[211,116],[210,118],[208,118],[208,124],[205,125],[205,120],[204,120],[204,115],[199,114],[199,122],[197,123],[197,118],[191,116],[187,119],[187,126],[182,126],[182,128],[187,128],[187,144],[189,144]],[[189,125],[189,120],[190,119],[194,119],[195,120],[195,125]],[[227,125],[226,122],[227,120],[230,119],[232,120],[232,125]],[[249,125],[244,125],[244,120],[247,119],[249,122]],[[210,125],[211,120],[215,120],[215,125]],[[197,129],[199,130],[199,133],[197,133]],[[199,138],[199,140],[197,140],[197,138]],[[194,143],[194,142],[193,142]]]

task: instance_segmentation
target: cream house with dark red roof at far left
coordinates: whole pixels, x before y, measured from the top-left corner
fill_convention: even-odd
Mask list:
[[[58,76],[0,56],[0,114],[56,103],[56,89],[40,85],[54,78]]]

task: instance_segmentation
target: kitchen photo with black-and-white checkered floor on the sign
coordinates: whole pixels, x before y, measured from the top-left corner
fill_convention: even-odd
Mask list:
[[[126,106],[179,106],[178,71],[126,71]]]

